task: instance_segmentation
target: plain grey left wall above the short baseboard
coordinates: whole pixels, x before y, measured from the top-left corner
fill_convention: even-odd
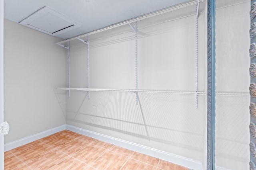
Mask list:
[[[65,124],[54,87],[65,86],[62,39],[4,20],[5,143]]]

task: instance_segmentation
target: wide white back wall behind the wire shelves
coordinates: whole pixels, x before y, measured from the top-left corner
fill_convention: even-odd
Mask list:
[[[198,90],[205,91],[204,15],[198,20]],[[138,89],[195,91],[195,16],[138,28]],[[135,33],[122,29],[90,35],[99,36],[89,40],[90,88],[135,89]],[[87,45],[72,46],[70,87],[87,84]],[[198,96],[198,109],[195,95],[138,97],[136,104],[135,93],[90,92],[88,100],[87,92],[71,91],[66,123],[202,162],[206,95]]]

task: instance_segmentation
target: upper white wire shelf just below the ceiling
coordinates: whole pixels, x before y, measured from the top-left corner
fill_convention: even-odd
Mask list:
[[[76,37],[72,37],[70,39],[66,39],[64,41],[60,41],[57,44],[67,45],[70,41],[70,46],[80,44],[80,39],[86,39],[90,35],[90,42],[102,39],[103,37],[113,37],[118,36],[118,38],[129,38],[133,35],[133,30],[129,24],[133,24],[138,21],[138,30],[141,30],[140,36],[145,36],[147,33],[145,32],[145,28],[156,25],[159,23],[164,23],[172,20],[176,20],[179,18],[184,18],[186,16],[196,15],[196,4],[200,3],[199,13],[204,11],[204,2],[205,0],[190,0],[186,3],[178,4],[176,6],[172,6],[170,8],[166,8],[163,10],[159,10],[156,12],[152,12],[150,14],[146,14],[144,16],[140,16],[137,18],[133,18],[131,20],[126,20],[120,23],[116,23],[114,25],[110,25],[108,27],[104,27],[102,29],[98,29],[95,31],[91,31],[89,33],[85,33],[82,35],[78,35]],[[102,35],[104,32],[104,35]],[[93,36],[92,36],[93,35]]]

